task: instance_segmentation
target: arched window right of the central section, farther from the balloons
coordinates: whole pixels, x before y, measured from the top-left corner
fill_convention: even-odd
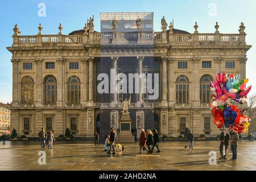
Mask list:
[[[176,79],[176,101],[177,104],[188,103],[188,77],[181,75]]]

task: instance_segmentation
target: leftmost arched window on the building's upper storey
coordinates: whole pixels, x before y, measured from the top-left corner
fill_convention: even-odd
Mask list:
[[[22,78],[21,84],[21,102],[22,104],[33,104],[34,102],[34,80],[30,76]]]

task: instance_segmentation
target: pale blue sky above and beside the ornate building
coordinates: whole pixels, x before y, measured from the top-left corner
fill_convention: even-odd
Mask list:
[[[40,3],[46,5],[46,15],[39,16]],[[13,28],[17,23],[21,35],[38,34],[42,23],[43,34],[57,34],[59,23],[63,34],[84,27],[86,20],[94,15],[94,30],[100,31],[100,13],[108,12],[154,12],[154,30],[160,31],[160,20],[165,16],[174,28],[193,32],[195,22],[201,33],[213,33],[218,22],[220,33],[238,34],[240,23],[245,23],[246,43],[253,46],[247,52],[246,77],[253,85],[250,94],[256,93],[256,1],[255,0],[12,0],[0,2],[0,102],[11,102],[12,64],[11,53],[6,47],[13,44]],[[255,85],[255,86],[254,86]]]

